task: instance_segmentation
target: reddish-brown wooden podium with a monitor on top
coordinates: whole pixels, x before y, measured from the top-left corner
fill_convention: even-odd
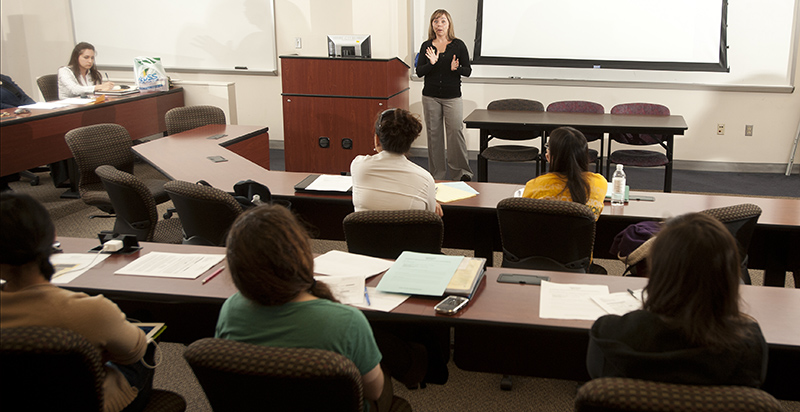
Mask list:
[[[398,58],[281,56],[286,171],[339,174],[373,154],[378,113],[408,109],[408,70]]]

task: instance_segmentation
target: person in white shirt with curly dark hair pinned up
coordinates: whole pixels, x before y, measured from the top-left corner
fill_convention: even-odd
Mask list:
[[[428,210],[442,216],[431,174],[406,158],[422,123],[408,110],[389,109],[375,122],[375,151],[350,164],[353,206],[362,210]]]

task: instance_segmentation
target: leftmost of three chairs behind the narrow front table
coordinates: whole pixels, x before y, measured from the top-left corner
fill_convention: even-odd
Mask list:
[[[495,100],[486,107],[488,110],[517,110],[530,112],[543,112],[544,105],[536,100],[528,99],[503,99]],[[489,130],[489,140],[532,140],[541,137],[540,130]],[[536,170],[532,176],[539,172],[539,148],[534,146],[502,144],[489,146],[478,156],[497,162],[530,162],[536,161]],[[478,162],[480,165],[481,162]],[[488,167],[487,167],[488,169]],[[487,182],[489,180],[488,170],[478,169],[478,181]]]

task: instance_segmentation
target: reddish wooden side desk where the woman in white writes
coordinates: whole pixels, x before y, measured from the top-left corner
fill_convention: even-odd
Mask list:
[[[75,128],[99,123],[125,127],[136,140],[167,130],[164,115],[183,106],[183,89],[106,97],[106,102],[70,105],[53,110],[0,118],[0,176],[72,158],[64,135]]]

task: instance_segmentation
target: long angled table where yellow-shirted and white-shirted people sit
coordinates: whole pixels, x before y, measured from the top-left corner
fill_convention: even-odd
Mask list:
[[[628,116],[637,117],[637,116]],[[244,129],[240,129],[244,128]],[[270,171],[245,156],[207,139],[226,134],[238,141],[252,133],[256,126],[205,126],[162,139],[134,146],[133,150],[162,173],[174,180],[205,180],[212,186],[232,191],[241,180],[252,179],[267,185],[273,198],[291,202],[292,210],[303,218],[312,237],[344,240],[342,220],[353,212],[348,195],[296,193],[294,186],[309,173]],[[247,155],[246,151],[240,151]],[[214,163],[209,156],[223,156],[225,162]],[[494,251],[502,250],[497,223],[497,203],[512,197],[519,184],[469,182],[480,194],[456,202],[445,203],[444,247],[468,249],[484,257],[491,266]],[[609,253],[614,236],[628,225],[643,220],[659,221],[688,212],[699,212],[724,206],[754,203],[761,207],[750,244],[749,267],[766,271],[765,285],[783,286],[787,270],[800,273],[800,199],[755,198],[724,195],[632,192],[654,201],[632,200],[622,207],[606,204],[597,221],[594,256],[616,259]],[[546,234],[545,234],[546,235]]]

